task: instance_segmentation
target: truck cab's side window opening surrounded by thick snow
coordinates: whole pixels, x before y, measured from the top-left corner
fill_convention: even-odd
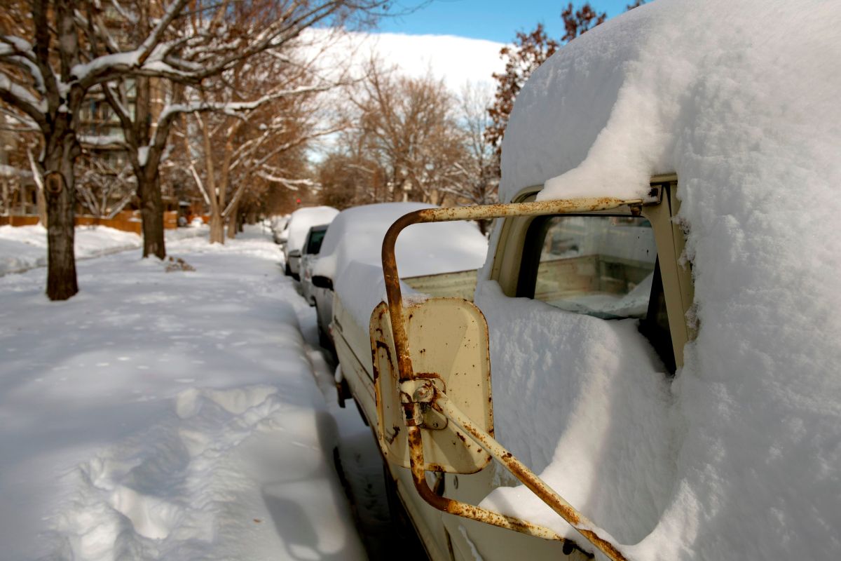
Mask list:
[[[526,233],[517,296],[604,320],[637,318],[674,373],[651,222],[631,215],[538,217]]]

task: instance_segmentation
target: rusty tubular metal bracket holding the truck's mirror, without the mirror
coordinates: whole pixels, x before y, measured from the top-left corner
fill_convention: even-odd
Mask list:
[[[401,400],[403,395],[407,400],[403,403],[405,408],[405,422],[407,437],[410,448],[410,466],[415,489],[426,500],[427,503],[440,511],[449,512],[457,516],[471,518],[498,527],[508,528],[516,532],[526,533],[535,537],[546,539],[557,539],[570,542],[558,536],[556,532],[545,527],[540,527],[528,521],[523,521],[511,516],[503,516],[499,513],[488,511],[479,506],[469,505],[458,500],[447,499],[436,495],[426,483],[425,463],[423,458],[423,442],[421,436],[421,405],[427,403],[430,386],[415,376],[412,360],[410,357],[409,342],[406,336],[405,317],[403,314],[403,295],[400,290],[400,279],[397,271],[397,259],[394,255],[394,247],[397,237],[406,227],[413,224],[428,222],[448,222],[454,220],[479,220],[491,218],[504,218],[507,216],[542,216],[547,214],[577,214],[595,212],[598,210],[615,209],[620,206],[639,206],[642,204],[656,204],[660,193],[650,193],[645,199],[637,198],[622,200],[618,198],[579,198],[561,201],[539,201],[535,203],[519,204],[489,204],[473,207],[455,207],[445,209],[423,209],[405,214],[400,217],[386,232],[383,238],[383,277],[385,279],[386,294],[389,300],[389,316],[391,320],[392,335],[394,337],[394,350],[397,354],[399,369],[399,383],[401,388]],[[407,382],[420,384],[404,384]],[[572,505],[545,484],[537,475],[517,460],[513,454],[501,447],[487,432],[481,431],[473,426],[469,419],[460,418],[461,412],[447,399],[446,394],[436,391],[433,386],[435,397],[431,405],[442,412],[448,419],[455,422],[480,446],[497,458],[511,474],[514,474],[523,484],[536,493],[547,505],[558,512],[564,520],[568,521],[583,537],[593,546],[605,553],[612,561],[626,561],[626,558],[616,546],[600,537],[596,532],[597,528]],[[415,400],[415,394],[417,400]],[[461,421],[461,422],[459,422]],[[577,547],[577,546],[576,546]]]

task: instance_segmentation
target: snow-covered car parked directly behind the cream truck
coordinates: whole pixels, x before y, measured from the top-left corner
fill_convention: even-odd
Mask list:
[[[336,216],[313,268],[312,293],[322,346],[335,343],[341,358],[350,348],[347,337],[356,337],[354,346],[368,341],[367,316],[384,294],[383,236],[399,216],[431,208],[435,207],[421,203],[368,204]],[[430,240],[440,243],[430,245]],[[484,262],[487,247],[488,241],[473,224],[420,226],[401,241],[397,258],[409,287],[424,287],[435,294],[444,289],[472,299],[476,269]],[[357,319],[360,314],[366,316],[362,322]]]

